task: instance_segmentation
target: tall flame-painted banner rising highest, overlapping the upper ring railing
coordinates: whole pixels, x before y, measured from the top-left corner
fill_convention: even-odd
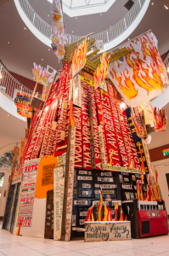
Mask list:
[[[63,13],[60,0],[53,0],[51,12],[52,20],[52,49],[59,59],[63,59],[65,55],[66,35],[64,28]]]

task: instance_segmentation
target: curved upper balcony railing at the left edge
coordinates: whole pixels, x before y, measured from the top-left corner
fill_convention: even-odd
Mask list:
[[[3,90],[4,93],[10,98],[14,100],[18,91],[29,96],[32,95],[33,90],[31,90],[25,84],[20,83],[18,79],[15,79],[14,76],[9,73],[8,69],[3,65],[2,61],[0,61],[0,72],[3,77],[0,79],[0,89]],[[42,95],[38,94],[38,97],[42,98]]]

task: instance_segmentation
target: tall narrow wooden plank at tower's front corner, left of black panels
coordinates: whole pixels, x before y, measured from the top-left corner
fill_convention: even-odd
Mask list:
[[[70,241],[71,233],[71,217],[73,207],[73,183],[74,183],[74,166],[75,166],[75,141],[76,141],[76,126],[71,126],[70,137],[70,164],[68,172],[68,189],[67,189],[67,204],[65,216],[65,241]]]

